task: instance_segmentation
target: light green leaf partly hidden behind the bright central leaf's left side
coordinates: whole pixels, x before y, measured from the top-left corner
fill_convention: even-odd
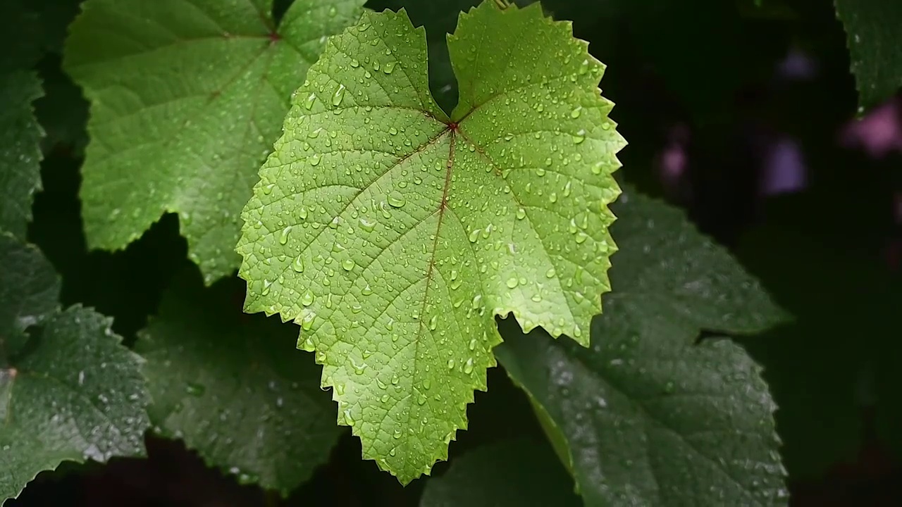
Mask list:
[[[239,211],[291,92],[362,4],[297,0],[277,27],[272,0],[87,0],[63,63],[91,103],[88,246],[124,248],[175,212],[205,281],[233,272]]]

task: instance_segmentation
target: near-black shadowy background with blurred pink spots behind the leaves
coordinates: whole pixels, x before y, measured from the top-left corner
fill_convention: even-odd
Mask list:
[[[58,30],[65,26],[60,19],[77,12],[75,0],[41,3]],[[368,6],[406,5],[415,22],[452,30],[456,9],[472,4]],[[892,396],[898,384],[887,374],[893,364],[881,369],[880,361],[898,348],[902,99],[856,119],[845,33],[832,2],[764,4],[543,2],[558,19],[576,20],[575,35],[608,65],[603,94],[616,103],[612,118],[630,142],[619,177],[685,207],[796,315],[793,327],[743,341],[765,365],[782,407],[790,503],[900,505],[902,447],[891,431],[878,430],[874,415],[899,410]],[[167,216],[124,252],[86,251],[78,167],[87,108],[61,73],[58,50],[51,48],[39,69],[47,97],[37,114],[48,137],[30,240],[62,274],[63,305],[80,302],[114,317],[115,331],[132,343],[184,263],[186,244],[177,218]],[[500,367],[489,385],[489,393],[476,392],[470,429],[451,446],[452,461],[503,436],[542,438],[528,402]],[[834,424],[839,419],[852,423]],[[346,431],[330,462],[287,500],[235,484],[178,441],[149,437],[147,447],[147,459],[41,474],[9,504],[416,505],[424,482],[402,488],[361,460],[359,441]],[[433,475],[446,467],[438,464]]]

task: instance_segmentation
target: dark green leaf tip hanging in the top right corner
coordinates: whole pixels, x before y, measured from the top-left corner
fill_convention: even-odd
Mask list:
[[[851,73],[859,94],[859,113],[896,94],[902,87],[902,4],[834,0],[848,37]]]

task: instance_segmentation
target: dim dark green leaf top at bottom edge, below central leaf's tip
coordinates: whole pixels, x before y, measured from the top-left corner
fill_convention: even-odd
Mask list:
[[[426,483],[419,501],[420,507],[582,504],[548,444],[528,438],[502,440],[456,457],[444,475]]]

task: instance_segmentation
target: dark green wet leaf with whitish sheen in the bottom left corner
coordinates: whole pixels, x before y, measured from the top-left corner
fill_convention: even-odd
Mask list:
[[[0,265],[0,499],[63,461],[143,455],[140,357],[109,318],[56,311],[59,281],[34,247],[0,235]]]

